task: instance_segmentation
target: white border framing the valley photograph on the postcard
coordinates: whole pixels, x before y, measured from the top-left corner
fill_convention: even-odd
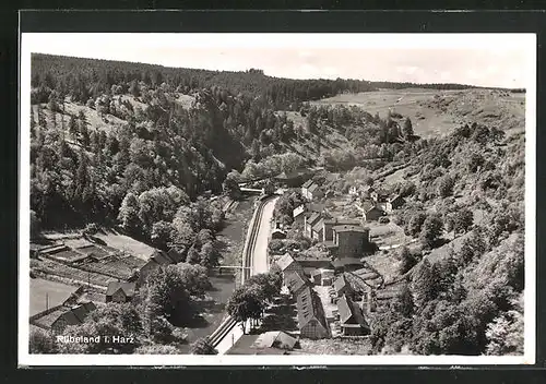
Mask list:
[[[525,292],[524,355],[503,357],[464,356],[193,356],[193,355],[31,355],[29,335],[29,120],[31,52],[40,51],[38,35],[20,39],[20,227],[19,227],[19,364],[38,365],[496,365],[534,364],[536,353],[536,35],[522,34],[142,34],[143,44],[154,38],[180,38],[188,47],[297,47],[301,48],[483,48],[525,47],[527,83],[525,96]],[[85,35],[85,34],[70,34]],[[110,34],[108,34],[111,36]],[[118,37],[123,34],[112,34]],[[127,34],[126,34],[127,35]],[[134,34],[131,34],[134,35]],[[155,37],[154,37],[155,35]],[[161,36],[157,36],[161,35]],[[320,36],[319,36],[320,35]],[[145,37],[145,38],[144,38]],[[314,37],[314,38],[312,38]],[[369,37],[366,39],[365,37]],[[78,38],[78,36],[75,36]],[[38,45],[37,45],[38,44]],[[411,48],[408,48],[411,47]]]

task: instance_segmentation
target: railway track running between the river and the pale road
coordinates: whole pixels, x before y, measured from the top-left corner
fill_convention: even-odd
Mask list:
[[[274,196],[268,196],[260,201],[256,209],[256,215],[252,218],[251,231],[249,241],[245,244],[242,251],[242,274],[241,274],[241,285],[250,277],[252,271],[252,253],[254,250],[254,244],[258,239],[258,232],[260,230],[260,224],[263,215],[263,206]],[[209,340],[214,348],[226,337],[229,332],[237,325],[237,322],[232,317],[227,316],[226,320],[209,336]]]

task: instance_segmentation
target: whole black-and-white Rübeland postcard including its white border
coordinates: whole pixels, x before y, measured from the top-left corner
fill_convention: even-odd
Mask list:
[[[535,56],[23,33],[20,364],[534,363]]]

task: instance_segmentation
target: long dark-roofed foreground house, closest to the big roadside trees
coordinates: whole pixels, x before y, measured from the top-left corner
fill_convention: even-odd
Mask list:
[[[330,328],[324,315],[324,308],[318,295],[306,287],[296,299],[298,328],[301,337],[311,339],[330,337]]]

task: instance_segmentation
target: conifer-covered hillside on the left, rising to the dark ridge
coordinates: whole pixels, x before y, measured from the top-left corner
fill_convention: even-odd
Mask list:
[[[115,224],[122,202],[132,201],[128,196],[176,188],[173,199],[183,202],[207,190],[219,192],[232,169],[252,170],[258,164],[271,173],[314,161],[327,145],[319,129],[325,127],[324,112],[301,104],[305,119],[295,124],[277,111],[277,101],[369,89],[365,82],[290,81],[256,71],[215,73],[44,55],[33,56],[32,71],[31,206],[44,228]],[[363,118],[369,120],[342,117],[347,121],[336,121],[336,129]],[[306,148],[295,155],[290,148],[297,143]]]

